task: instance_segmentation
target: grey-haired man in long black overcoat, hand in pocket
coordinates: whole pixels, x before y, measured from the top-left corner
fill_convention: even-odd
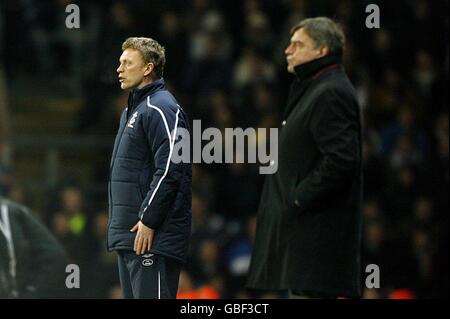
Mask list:
[[[295,75],[266,178],[248,288],[291,298],[360,296],[361,120],[341,65],[345,37],[328,18],[292,29]]]

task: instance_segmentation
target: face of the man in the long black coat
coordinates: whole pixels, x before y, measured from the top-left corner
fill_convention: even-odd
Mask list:
[[[303,30],[298,29],[291,37],[291,42],[286,48],[286,61],[288,72],[294,73],[297,65],[323,57],[327,53],[327,48],[316,48],[313,39]]]

